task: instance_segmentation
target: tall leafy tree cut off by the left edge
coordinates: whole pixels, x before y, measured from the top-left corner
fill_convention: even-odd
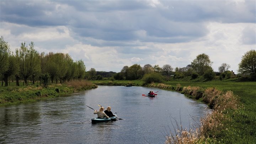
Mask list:
[[[10,45],[4,41],[4,37],[0,38],[0,75],[8,69],[8,56],[10,55]]]

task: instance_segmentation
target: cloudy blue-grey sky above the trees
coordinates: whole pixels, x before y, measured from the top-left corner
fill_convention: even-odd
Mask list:
[[[182,68],[199,54],[238,73],[256,50],[255,0],[1,0],[0,35],[10,49],[68,53],[86,71],[123,66]]]

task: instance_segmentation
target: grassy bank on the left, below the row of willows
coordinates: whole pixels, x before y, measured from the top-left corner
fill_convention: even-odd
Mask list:
[[[75,91],[90,90],[97,85],[88,81],[70,81],[65,84],[52,84],[48,88],[42,86],[0,86],[0,106],[15,105],[21,102],[33,102],[58,97]]]

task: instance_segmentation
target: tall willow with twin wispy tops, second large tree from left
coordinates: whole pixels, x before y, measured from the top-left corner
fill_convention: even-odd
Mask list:
[[[39,53],[34,49],[34,43],[31,42],[29,47],[26,46],[25,42],[21,43],[20,49],[16,49],[16,58],[20,73],[23,75],[25,84],[28,85],[28,77],[41,71],[40,57]]]

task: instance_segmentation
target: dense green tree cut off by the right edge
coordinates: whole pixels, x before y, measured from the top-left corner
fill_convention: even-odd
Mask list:
[[[256,50],[246,52],[238,66],[240,73],[250,75],[253,80],[256,80]]]

